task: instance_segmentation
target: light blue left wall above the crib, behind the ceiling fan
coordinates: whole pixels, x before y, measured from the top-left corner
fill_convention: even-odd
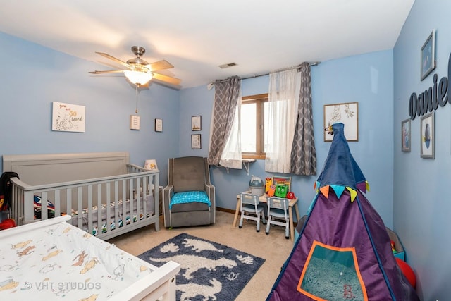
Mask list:
[[[168,157],[179,152],[178,91],[141,91],[141,129],[130,130],[136,97],[125,78],[89,75],[102,66],[2,33],[0,44],[1,155],[125,151],[140,166],[156,159],[166,183]],[[52,131],[51,102],[86,106],[85,133]],[[155,118],[163,119],[162,133]]]

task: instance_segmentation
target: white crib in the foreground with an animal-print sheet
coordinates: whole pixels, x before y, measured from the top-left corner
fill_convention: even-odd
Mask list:
[[[175,300],[180,264],[157,268],[66,221],[0,231],[0,300]]]

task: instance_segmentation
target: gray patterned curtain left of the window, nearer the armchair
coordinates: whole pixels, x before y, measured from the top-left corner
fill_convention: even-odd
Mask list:
[[[237,76],[216,80],[214,94],[213,123],[211,129],[209,165],[218,166],[226,146],[235,118],[235,109],[240,96],[241,80]]]

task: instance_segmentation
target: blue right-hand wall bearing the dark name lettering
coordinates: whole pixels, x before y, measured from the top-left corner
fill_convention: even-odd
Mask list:
[[[397,40],[394,55],[394,206],[393,224],[407,249],[422,300],[450,300],[451,249],[447,182],[451,177],[451,105],[435,111],[435,159],[420,157],[420,117],[411,121],[411,152],[401,152],[401,122],[409,118],[412,92],[420,94],[448,77],[451,2],[416,0]],[[437,68],[420,79],[420,49],[435,29]],[[448,80],[450,80],[448,78]],[[449,85],[449,84],[448,84]],[[451,100],[448,94],[448,102]]]

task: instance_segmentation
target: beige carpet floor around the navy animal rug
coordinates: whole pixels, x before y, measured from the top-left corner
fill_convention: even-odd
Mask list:
[[[147,226],[112,238],[109,242],[130,254],[139,255],[175,235],[188,233],[264,258],[266,261],[236,300],[266,300],[283,263],[290,255],[292,241],[285,239],[285,228],[280,226],[271,226],[269,235],[265,233],[265,225],[261,225],[260,232],[257,233],[255,221],[245,221],[241,229],[238,226],[233,228],[233,216],[228,212],[216,211],[216,223],[212,226],[173,228],[172,230],[163,227],[161,216],[159,232],[155,231],[154,226]]]

